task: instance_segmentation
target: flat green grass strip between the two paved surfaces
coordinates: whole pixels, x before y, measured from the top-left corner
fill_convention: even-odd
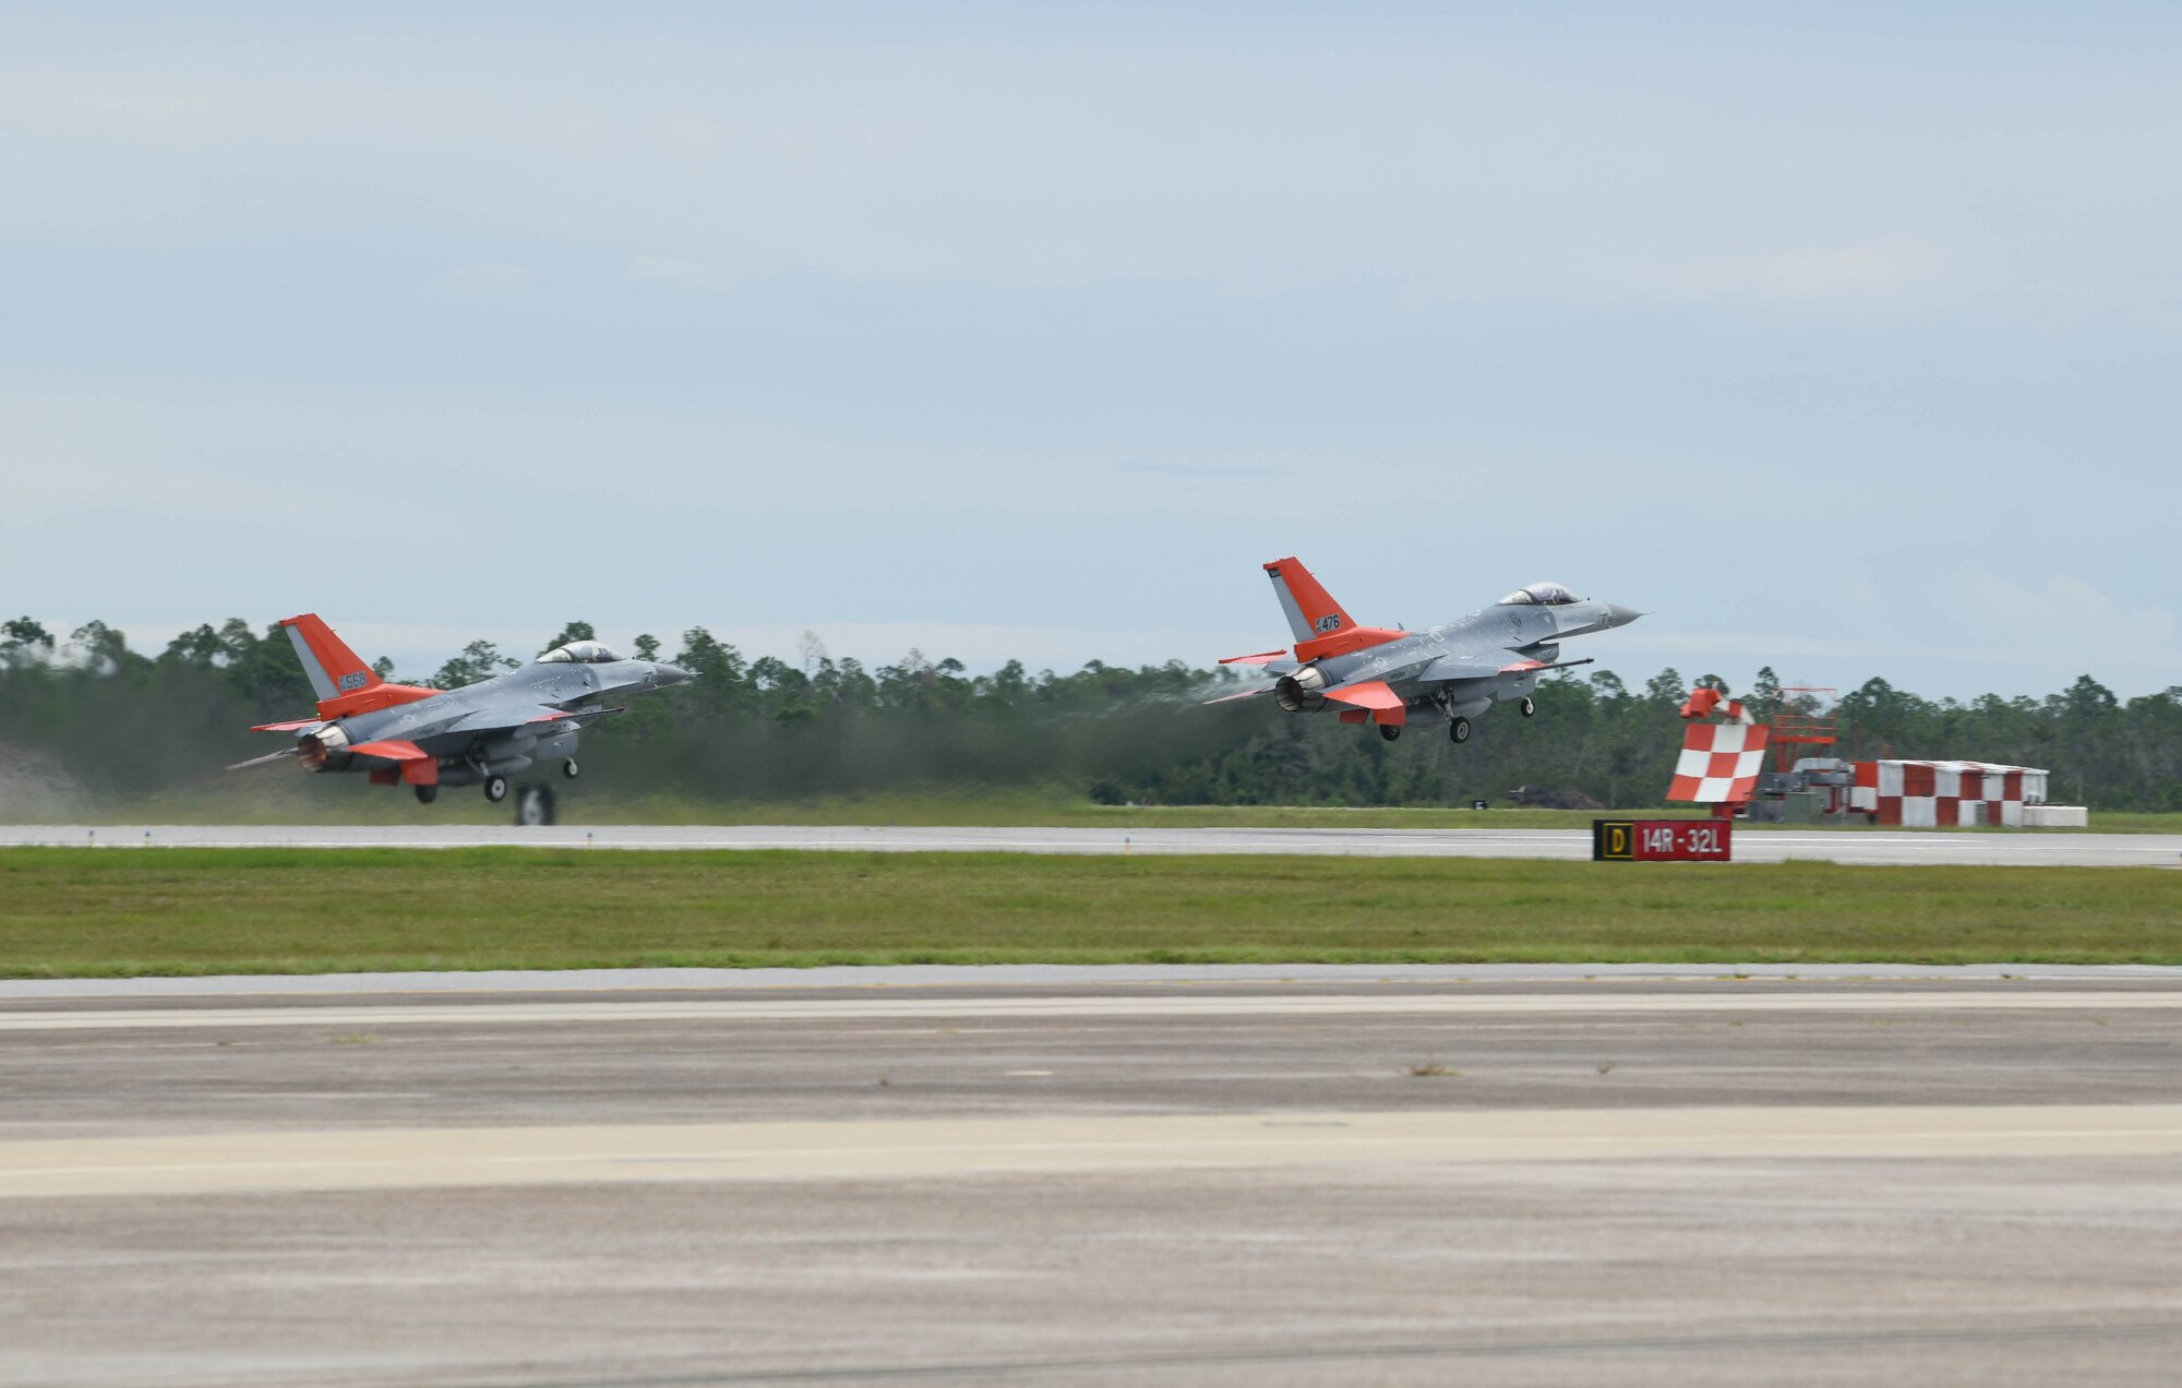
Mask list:
[[[2182,962],[2182,875],[0,849],[0,976],[882,962]]]

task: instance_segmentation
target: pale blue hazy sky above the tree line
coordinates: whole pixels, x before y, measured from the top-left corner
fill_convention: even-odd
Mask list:
[[[0,4],[0,615],[2182,685],[2178,7],[179,11]]]

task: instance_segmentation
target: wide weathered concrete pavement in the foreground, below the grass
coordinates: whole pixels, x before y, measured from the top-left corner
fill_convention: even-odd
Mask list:
[[[2173,971],[716,973],[7,984],[0,1381],[2182,1355]]]

